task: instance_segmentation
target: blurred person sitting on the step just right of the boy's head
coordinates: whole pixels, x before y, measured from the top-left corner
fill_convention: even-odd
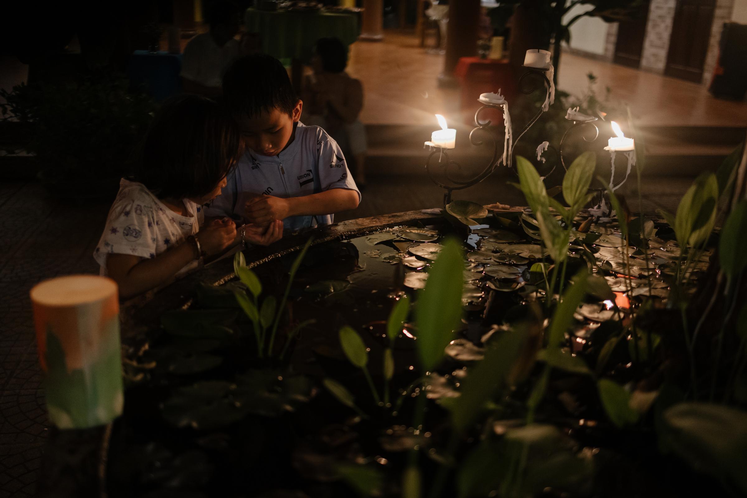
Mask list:
[[[347,47],[334,37],[317,41],[311,58],[313,73],[303,82],[306,126],[320,126],[353,159],[353,176],[365,185],[366,131],[358,119],[363,108],[363,86],[345,73]]]

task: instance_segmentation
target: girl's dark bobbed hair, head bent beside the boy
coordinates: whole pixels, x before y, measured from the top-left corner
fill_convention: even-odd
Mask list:
[[[175,96],[155,115],[135,179],[161,199],[202,197],[236,166],[243,147],[237,124],[220,105]]]

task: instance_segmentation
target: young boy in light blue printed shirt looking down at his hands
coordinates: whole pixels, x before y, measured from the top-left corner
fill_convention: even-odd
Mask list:
[[[264,227],[282,220],[296,231],[332,224],[361,194],[338,144],[318,126],[300,123],[301,102],[280,61],[247,55],[223,77],[223,99],[247,152],[223,194],[205,213]]]

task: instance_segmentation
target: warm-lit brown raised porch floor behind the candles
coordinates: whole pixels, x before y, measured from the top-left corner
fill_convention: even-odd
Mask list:
[[[421,49],[413,34],[387,31],[380,43],[354,43],[347,71],[365,87],[362,122],[422,125],[433,114],[453,114],[459,89],[438,87],[443,64],[443,56]],[[558,87],[584,93],[588,73],[598,77],[599,93],[611,87],[613,101],[629,104],[642,125],[747,125],[747,102],[716,99],[703,84],[578,55],[562,55]]]

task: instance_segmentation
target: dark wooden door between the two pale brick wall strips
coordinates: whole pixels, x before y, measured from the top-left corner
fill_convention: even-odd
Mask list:
[[[710,28],[716,0],[678,0],[664,74],[691,82],[703,81]]]

